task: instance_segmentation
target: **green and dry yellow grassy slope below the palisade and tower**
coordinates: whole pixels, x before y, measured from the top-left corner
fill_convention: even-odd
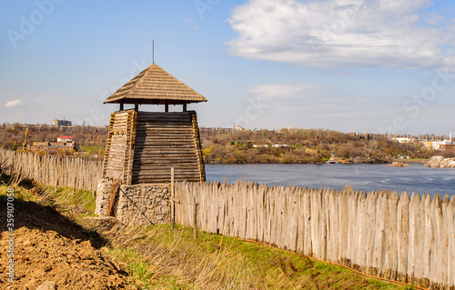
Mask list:
[[[6,186],[0,185],[0,195]],[[83,226],[93,215],[91,193],[39,185],[18,186],[15,198],[53,205]],[[86,231],[90,233],[90,230]],[[136,285],[148,289],[406,289],[320,263],[221,235],[168,225],[114,228],[103,233],[107,254],[126,263]]]

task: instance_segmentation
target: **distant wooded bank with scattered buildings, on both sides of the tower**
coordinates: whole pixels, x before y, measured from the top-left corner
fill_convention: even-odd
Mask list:
[[[55,119],[51,125],[3,124],[3,148],[37,155],[103,158],[108,126],[73,125]],[[391,163],[455,156],[455,133],[448,135],[380,135],[340,133],[329,129],[280,128],[248,130],[200,128],[204,160],[232,163]],[[404,162],[404,160],[403,160]]]

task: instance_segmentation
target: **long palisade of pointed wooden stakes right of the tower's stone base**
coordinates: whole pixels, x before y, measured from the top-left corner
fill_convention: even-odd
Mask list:
[[[431,289],[455,286],[455,197],[237,183],[176,185],[176,223]]]

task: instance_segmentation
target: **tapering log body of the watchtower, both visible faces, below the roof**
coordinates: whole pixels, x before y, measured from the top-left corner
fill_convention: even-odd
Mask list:
[[[103,178],[123,185],[205,181],[197,115],[188,112],[118,111],[111,115]]]

